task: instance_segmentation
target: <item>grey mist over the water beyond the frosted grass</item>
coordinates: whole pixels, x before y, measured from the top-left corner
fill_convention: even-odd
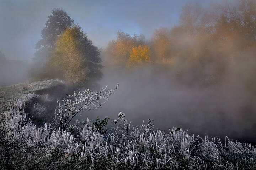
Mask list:
[[[204,87],[179,83],[174,69],[105,68],[103,73],[100,85],[111,88],[119,83],[120,87],[104,106],[82,118],[114,120],[123,111],[132,124],[154,119],[155,129],[165,132],[174,126],[191,135],[256,142],[256,100],[245,89],[242,77],[234,73],[229,72],[219,84]]]

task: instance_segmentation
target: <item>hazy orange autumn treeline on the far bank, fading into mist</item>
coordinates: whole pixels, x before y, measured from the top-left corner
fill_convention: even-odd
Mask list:
[[[173,69],[177,81],[189,85],[215,84],[227,74],[246,75],[246,86],[255,91],[255,52],[256,1],[240,0],[210,8],[187,3],[177,26],[156,29],[149,40],[120,30],[104,57],[106,64],[122,68]]]

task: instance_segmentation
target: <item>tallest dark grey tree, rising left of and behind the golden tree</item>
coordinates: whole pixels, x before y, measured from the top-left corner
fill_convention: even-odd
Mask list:
[[[74,20],[62,8],[52,10],[52,15],[48,16],[45,27],[41,31],[42,39],[36,44],[35,66],[31,70],[33,78],[45,79],[56,77],[56,74],[53,74],[55,72],[52,68],[48,67],[49,58],[55,48],[57,37],[73,24]]]

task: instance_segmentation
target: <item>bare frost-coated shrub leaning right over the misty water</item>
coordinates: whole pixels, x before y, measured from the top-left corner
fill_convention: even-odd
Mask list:
[[[78,90],[73,94],[67,95],[63,100],[58,100],[58,107],[55,109],[55,121],[59,123],[60,130],[72,127],[70,121],[78,115],[81,110],[93,110],[101,107],[107,102],[111,94],[119,87],[119,84],[113,90],[103,87],[98,92]]]

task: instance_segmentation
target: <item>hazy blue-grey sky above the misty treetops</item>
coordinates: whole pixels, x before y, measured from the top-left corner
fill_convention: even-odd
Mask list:
[[[0,0],[0,49],[9,59],[31,62],[54,8],[63,8],[94,45],[105,47],[116,38],[117,30],[149,38],[161,26],[178,24],[182,6],[188,1],[192,0]]]

